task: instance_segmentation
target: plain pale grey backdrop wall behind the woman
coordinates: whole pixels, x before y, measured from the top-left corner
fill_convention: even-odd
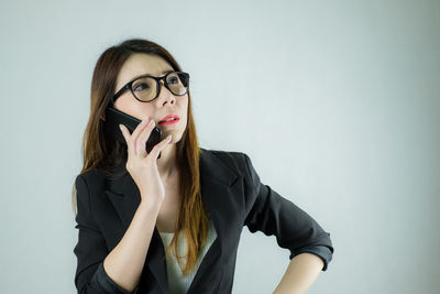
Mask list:
[[[2,1],[0,293],[76,293],[91,74],[146,37],[191,75],[200,145],[246,152],[330,232],[308,293],[438,293],[439,1]],[[243,229],[233,293],[288,264]]]

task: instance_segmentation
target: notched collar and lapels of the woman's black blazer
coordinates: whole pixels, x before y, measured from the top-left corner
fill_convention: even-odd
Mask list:
[[[123,166],[119,168],[125,170],[125,165],[123,164]],[[226,240],[223,236],[226,236],[226,230],[228,229],[228,220],[224,219],[224,215],[228,207],[222,205],[222,197],[233,194],[232,187],[239,177],[235,172],[213,155],[211,151],[202,148],[200,148],[199,170],[201,196],[206,203],[208,216],[212,219],[216,228],[217,239],[200,263],[188,293],[196,291],[194,290],[195,284],[198,284],[198,282],[204,279],[204,272],[209,270],[210,264],[218,259],[219,249],[224,244]],[[106,194],[123,225],[117,236],[117,239],[120,240],[140,205],[141,195],[135,182],[129,173],[117,181],[110,182],[109,189],[106,190]],[[168,293],[165,249],[156,227],[154,227],[144,266],[150,268],[164,293]]]

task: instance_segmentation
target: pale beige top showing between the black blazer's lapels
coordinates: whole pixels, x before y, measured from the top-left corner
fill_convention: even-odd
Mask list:
[[[170,243],[174,232],[160,232],[162,241],[164,242],[165,249]],[[212,242],[217,238],[217,232],[213,227],[212,221],[210,221],[209,230],[208,230],[208,240],[205,243],[204,248],[200,251],[200,255],[198,257],[196,268],[191,273],[184,276],[180,270],[180,266],[177,263],[177,258],[170,252],[169,254],[166,252],[166,268],[167,268],[167,275],[168,275],[168,284],[169,284],[169,293],[172,294],[185,294],[187,293],[194,276],[197,273],[198,268],[200,266],[201,261],[204,260],[205,254],[208,252],[208,249],[212,244]],[[185,255],[186,253],[186,238],[180,232],[179,239],[177,239],[177,252],[180,257]],[[180,258],[183,264],[185,264],[185,257]]]

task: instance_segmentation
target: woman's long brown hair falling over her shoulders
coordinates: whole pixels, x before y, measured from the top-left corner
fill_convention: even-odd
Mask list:
[[[163,46],[143,39],[131,39],[107,48],[95,66],[90,90],[90,117],[82,135],[81,153],[82,168],[80,174],[92,168],[99,168],[109,177],[117,176],[113,167],[127,162],[127,145],[107,138],[103,132],[101,117],[105,118],[106,108],[114,94],[116,80],[124,62],[134,53],[145,53],[160,56],[167,61],[174,70],[182,70],[179,64]],[[184,274],[190,273],[197,262],[197,257],[208,237],[209,219],[201,200],[199,181],[199,146],[194,123],[191,99],[188,88],[187,128],[176,143],[177,167],[180,171],[179,193],[183,202],[179,208],[176,233],[167,248],[168,252],[177,255],[177,237],[183,231],[187,239],[186,265]],[[124,171],[127,172],[127,171]],[[77,214],[76,187],[72,193],[72,204]]]

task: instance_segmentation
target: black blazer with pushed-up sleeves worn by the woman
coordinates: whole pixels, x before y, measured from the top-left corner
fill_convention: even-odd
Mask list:
[[[274,235],[289,259],[302,252],[320,257],[327,270],[333,247],[330,233],[290,200],[260,182],[251,160],[242,152],[200,148],[200,185],[217,239],[206,253],[189,294],[229,294],[235,271],[235,257],[244,226],[251,232]],[[123,166],[125,168],[125,166]],[[129,173],[110,181],[97,170],[80,174],[77,188],[78,242],[75,285],[78,293],[130,293],[106,274],[103,259],[122,239],[140,204],[141,195]],[[164,246],[154,228],[141,282],[131,293],[169,293]]]

